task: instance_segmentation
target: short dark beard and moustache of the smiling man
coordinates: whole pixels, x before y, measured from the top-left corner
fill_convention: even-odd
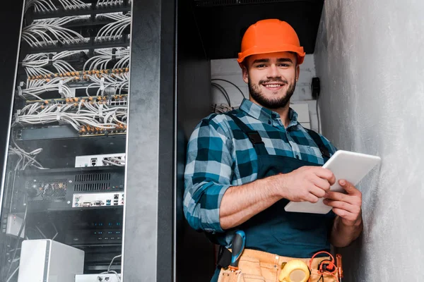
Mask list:
[[[281,82],[285,85],[288,85],[288,90],[285,92],[285,95],[283,97],[276,97],[276,98],[267,98],[262,93],[260,89],[260,85],[263,83],[268,82]],[[293,96],[293,93],[295,92],[296,88],[296,81],[293,81],[293,83],[288,84],[287,80],[282,79],[273,79],[273,80],[260,80],[257,85],[254,85],[252,81],[248,81],[249,85],[249,94],[252,96],[252,98],[258,102],[261,106],[264,106],[267,109],[281,109],[287,106],[288,102],[290,102],[290,98]],[[277,94],[277,92],[273,92],[273,94]]]

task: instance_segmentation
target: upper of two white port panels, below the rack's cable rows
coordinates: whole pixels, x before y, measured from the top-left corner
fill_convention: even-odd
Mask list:
[[[124,166],[125,153],[76,156],[75,167]]]

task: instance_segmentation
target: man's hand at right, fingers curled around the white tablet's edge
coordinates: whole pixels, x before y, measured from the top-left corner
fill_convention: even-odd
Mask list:
[[[338,183],[347,194],[329,191],[324,204],[333,207],[334,214],[341,217],[344,225],[358,226],[362,221],[362,193],[346,180],[339,180]]]

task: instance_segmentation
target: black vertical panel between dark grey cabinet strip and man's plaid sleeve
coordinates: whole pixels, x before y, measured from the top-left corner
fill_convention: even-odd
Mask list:
[[[177,280],[209,281],[215,266],[213,245],[188,226],[182,212],[187,140],[211,111],[211,63],[187,2],[179,1],[177,33]]]

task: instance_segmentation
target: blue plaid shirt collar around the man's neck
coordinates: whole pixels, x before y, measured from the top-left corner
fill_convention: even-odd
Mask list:
[[[254,104],[252,101],[248,99],[243,99],[242,104],[240,105],[240,110],[244,111],[252,118],[256,118],[258,121],[263,123],[267,123],[268,121],[272,121],[273,119],[280,119],[280,114],[275,111],[271,111],[269,109],[264,108],[263,106],[259,106],[258,104]],[[298,125],[298,113],[295,112],[292,108],[288,110],[288,117],[290,123],[287,128]]]

